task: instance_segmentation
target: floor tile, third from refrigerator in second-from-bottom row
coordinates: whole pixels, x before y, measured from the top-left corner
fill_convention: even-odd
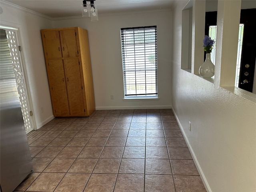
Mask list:
[[[96,158],[78,158],[72,164],[68,173],[92,173],[97,160]]]

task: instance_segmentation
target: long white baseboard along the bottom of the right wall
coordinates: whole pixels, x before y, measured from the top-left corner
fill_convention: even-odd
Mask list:
[[[177,116],[177,114],[176,114],[176,112],[175,112],[175,110],[174,110],[173,108],[172,108],[172,111],[173,111],[174,116],[175,116],[175,118],[176,118],[176,120],[177,120],[177,122],[178,122],[178,125],[179,125],[179,127],[180,127],[181,132],[182,132],[182,135],[183,135],[183,137],[184,137],[184,139],[185,139],[185,141],[186,141],[186,144],[187,144],[187,146],[188,146],[188,149],[190,150],[190,153],[192,154],[192,158],[193,158],[193,160],[194,160],[194,163],[195,163],[195,165],[196,165],[196,168],[197,168],[197,170],[198,170],[198,173],[199,173],[199,175],[200,175],[200,177],[201,177],[201,179],[202,179],[202,182],[203,182],[203,184],[204,184],[204,187],[205,187],[205,189],[206,189],[207,192],[212,192],[212,190],[210,189],[210,186],[209,186],[209,184],[208,184],[208,182],[207,182],[207,180],[206,180],[206,178],[205,178],[205,176],[204,176],[204,173],[203,173],[203,171],[202,171],[202,169],[201,169],[201,167],[200,167],[200,164],[198,163],[198,160],[197,160],[197,158],[196,158],[196,155],[194,154],[194,151],[193,151],[193,149],[192,149],[192,147],[191,147],[191,145],[190,145],[190,143],[189,143],[189,140],[188,140],[188,138],[187,138],[187,136],[186,136],[186,134],[185,134],[185,132],[184,132],[184,128],[182,127],[182,125],[181,125],[181,123],[180,123],[180,120],[179,120],[179,118],[178,118],[178,116]]]

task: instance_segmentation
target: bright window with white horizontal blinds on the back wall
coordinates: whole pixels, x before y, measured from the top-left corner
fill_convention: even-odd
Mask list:
[[[121,28],[124,98],[157,98],[156,26]]]

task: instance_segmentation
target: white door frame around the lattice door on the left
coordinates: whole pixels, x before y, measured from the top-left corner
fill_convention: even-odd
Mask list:
[[[18,51],[18,54],[19,54],[19,58],[20,58],[20,66],[22,68],[22,72],[23,72],[23,76],[24,76],[24,83],[25,83],[26,96],[27,96],[27,100],[28,100],[28,107],[29,107],[30,111],[32,111],[32,114],[33,114],[32,116],[30,116],[31,126],[32,126],[32,130],[37,130],[36,118],[34,116],[34,108],[33,108],[32,96],[31,96],[31,91],[30,91],[30,85],[28,83],[29,81],[28,81],[28,73],[27,73],[25,56],[24,56],[24,49],[23,49],[22,41],[21,41],[21,34],[20,34],[21,27],[19,24],[1,20],[0,28],[4,29],[4,30],[16,30],[15,34],[16,34],[17,46],[22,47],[22,51]]]

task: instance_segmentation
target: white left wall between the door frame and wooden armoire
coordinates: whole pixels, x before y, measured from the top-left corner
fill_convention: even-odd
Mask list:
[[[40,34],[40,29],[52,28],[52,21],[12,8],[4,2],[1,2],[1,7],[3,13],[1,14],[0,24],[18,27],[20,31],[36,127],[40,128],[53,118]],[[41,113],[41,107],[44,108],[43,113]]]

